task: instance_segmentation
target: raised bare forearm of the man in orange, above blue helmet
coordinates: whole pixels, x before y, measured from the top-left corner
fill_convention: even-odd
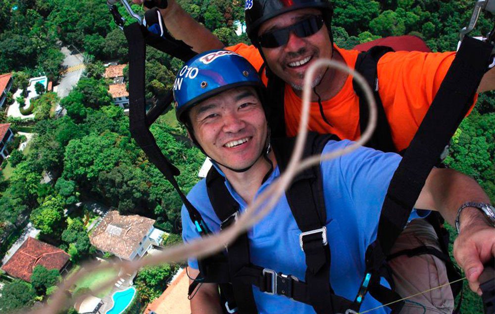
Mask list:
[[[160,11],[170,34],[193,47],[195,52],[224,47],[218,38],[193,19],[175,0],[168,0],[168,7]]]

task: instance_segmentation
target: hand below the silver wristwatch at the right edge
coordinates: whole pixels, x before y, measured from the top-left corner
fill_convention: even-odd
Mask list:
[[[471,209],[477,210],[477,209]],[[464,224],[454,242],[454,258],[464,270],[469,287],[481,296],[483,264],[495,256],[495,228],[485,222]]]

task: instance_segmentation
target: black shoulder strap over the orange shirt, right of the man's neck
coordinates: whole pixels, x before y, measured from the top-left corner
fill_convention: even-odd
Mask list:
[[[385,115],[385,109],[383,108],[382,100],[380,99],[380,94],[378,93],[379,85],[377,63],[378,60],[385,53],[393,51],[394,50],[390,47],[375,46],[367,52],[359,53],[355,65],[356,71],[364,76],[366,82],[368,82],[368,85],[373,91],[378,109],[377,126],[371,139],[368,141],[368,143],[366,143],[366,146],[383,152],[396,152],[396,146],[392,141],[392,133],[390,131],[389,121],[387,120],[387,116]],[[361,87],[355,80],[352,82],[352,84],[355,93],[359,97],[359,128],[362,134],[366,129],[368,123],[369,108]]]

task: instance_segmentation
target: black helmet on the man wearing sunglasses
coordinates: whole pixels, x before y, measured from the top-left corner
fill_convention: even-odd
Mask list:
[[[321,9],[330,32],[333,8],[328,0],[246,0],[244,10],[247,36],[257,46],[257,31],[263,22],[286,12],[308,7]]]

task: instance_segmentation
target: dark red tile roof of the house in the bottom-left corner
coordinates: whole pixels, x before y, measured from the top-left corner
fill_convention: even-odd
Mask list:
[[[1,269],[13,277],[30,282],[36,265],[60,270],[69,258],[70,255],[61,249],[29,237]]]

